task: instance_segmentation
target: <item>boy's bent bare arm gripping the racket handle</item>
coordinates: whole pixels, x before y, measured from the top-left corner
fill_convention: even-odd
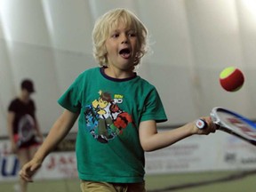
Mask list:
[[[144,151],[154,151],[159,148],[168,147],[193,134],[209,134],[210,132],[215,132],[216,127],[212,124],[210,117],[202,118],[208,124],[205,129],[198,129],[195,122],[191,122],[166,132],[157,132],[156,121],[154,120],[141,122],[139,128],[141,147]]]

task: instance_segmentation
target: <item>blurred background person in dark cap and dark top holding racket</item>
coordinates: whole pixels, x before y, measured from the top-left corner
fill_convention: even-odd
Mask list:
[[[20,95],[8,107],[7,124],[12,153],[18,156],[20,166],[23,166],[36,153],[43,135],[36,120],[36,104],[30,98],[35,92],[33,82],[29,79],[23,80],[20,89]],[[27,191],[25,180],[20,180],[20,191]]]

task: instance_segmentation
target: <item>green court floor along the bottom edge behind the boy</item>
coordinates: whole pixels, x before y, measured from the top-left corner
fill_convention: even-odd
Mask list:
[[[146,177],[148,192],[255,192],[256,170],[234,172],[193,172],[150,175]],[[1,191],[12,192],[15,183],[1,182]],[[28,192],[80,191],[79,180],[36,180]]]

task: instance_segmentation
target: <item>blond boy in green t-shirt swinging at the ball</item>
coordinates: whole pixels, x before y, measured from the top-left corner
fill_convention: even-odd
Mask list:
[[[125,9],[107,12],[92,31],[94,57],[100,68],[85,70],[60,99],[65,108],[20,177],[31,176],[79,116],[76,158],[82,191],[146,191],[144,151],[172,145],[199,130],[194,122],[168,132],[156,123],[167,120],[156,88],[134,72],[147,49],[147,28]]]

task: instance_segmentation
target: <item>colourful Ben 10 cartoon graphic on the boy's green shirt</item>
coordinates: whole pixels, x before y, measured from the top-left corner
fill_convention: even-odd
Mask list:
[[[118,106],[123,102],[123,95],[115,94],[112,99],[109,92],[100,91],[99,94],[98,99],[85,107],[86,127],[95,140],[108,143],[108,140],[122,134],[129,123],[133,123],[132,116]]]

